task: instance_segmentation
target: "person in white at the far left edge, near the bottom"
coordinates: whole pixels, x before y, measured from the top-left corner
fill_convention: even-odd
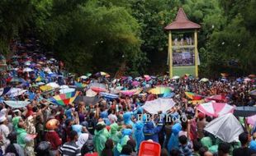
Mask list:
[[[0,117],[0,137],[2,138],[2,154],[5,154],[5,149],[7,148],[7,145],[10,143],[10,140],[7,139],[7,136],[9,135],[10,131],[7,127],[7,117],[2,116]]]

